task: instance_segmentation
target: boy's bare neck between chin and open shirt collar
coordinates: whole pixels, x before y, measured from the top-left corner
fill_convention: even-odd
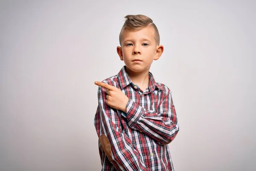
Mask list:
[[[142,90],[148,88],[149,68],[147,70],[143,70],[141,72],[134,72],[134,71],[130,70],[128,67],[126,67],[126,72],[127,72],[128,76],[131,78],[131,81],[134,84],[138,85]]]

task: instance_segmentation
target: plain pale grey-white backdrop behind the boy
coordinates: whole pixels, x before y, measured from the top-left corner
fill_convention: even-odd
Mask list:
[[[124,65],[127,14],[164,46],[151,66],[172,90],[175,171],[256,169],[256,1],[0,2],[0,170],[99,171],[94,81]]]

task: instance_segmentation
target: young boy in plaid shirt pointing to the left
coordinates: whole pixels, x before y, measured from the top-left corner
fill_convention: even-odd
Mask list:
[[[149,72],[163,53],[153,21],[127,15],[117,53],[125,66],[116,76],[96,81],[94,125],[103,171],[173,171],[169,144],[179,126],[171,91]]]

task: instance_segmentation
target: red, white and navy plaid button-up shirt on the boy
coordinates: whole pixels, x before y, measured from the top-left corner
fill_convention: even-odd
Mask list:
[[[106,89],[99,86],[94,125],[103,171],[173,171],[167,144],[179,126],[171,91],[156,83],[150,72],[148,78],[144,92],[131,81],[125,66],[102,81],[128,96],[126,113],[109,107]]]

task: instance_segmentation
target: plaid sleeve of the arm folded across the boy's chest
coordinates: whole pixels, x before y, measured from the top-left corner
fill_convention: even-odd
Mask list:
[[[126,105],[128,125],[139,130],[163,145],[171,143],[179,131],[175,106],[173,105],[171,91],[163,98],[158,107],[159,113],[148,111],[129,99]]]

